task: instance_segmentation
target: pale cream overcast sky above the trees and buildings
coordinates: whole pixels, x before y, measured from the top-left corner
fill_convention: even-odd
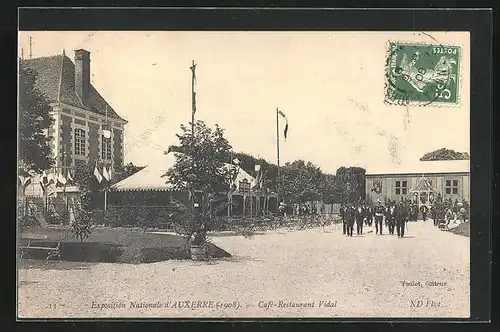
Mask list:
[[[389,40],[434,42],[385,32],[21,32],[29,57],[91,52],[92,84],[123,118],[125,161],[145,165],[177,143],[191,119],[218,123],[235,151],[276,162],[276,107],[288,117],[281,162],[305,159],[334,173],[417,162],[446,147],[469,152],[469,34],[434,33],[463,47],[459,107],[385,105]],[[284,122],[282,122],[282,131]]]

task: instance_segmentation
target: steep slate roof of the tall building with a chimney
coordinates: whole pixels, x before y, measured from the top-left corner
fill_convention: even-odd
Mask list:
[[[89,107],[85,107],[75,90],[75,64],[65,54],[49,57],[24,59],[21,66],[30,68],[37,74],[35,86],[48,102],[61,102],[86,109],[90,112],[126,121],[106,102],[90,84]]]

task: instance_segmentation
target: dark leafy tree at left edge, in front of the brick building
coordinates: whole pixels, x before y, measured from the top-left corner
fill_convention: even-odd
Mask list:
[[[51,157],[51,138],[45,134],[54,119],[51,107],[36,88],[36,73],[19,65],[19,168],[26,172],[41,172],[49,169],[54,161]]]

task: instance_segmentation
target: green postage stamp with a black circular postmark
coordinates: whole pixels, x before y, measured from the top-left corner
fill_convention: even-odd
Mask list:
[[[458,105],[461,56],[460,46],[389,42],[385,102]]]

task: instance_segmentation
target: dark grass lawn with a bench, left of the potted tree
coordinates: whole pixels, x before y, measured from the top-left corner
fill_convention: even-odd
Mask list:
[[[169,259],[191,259],[185,238],[171,234],[144,233],[140,228],[95,228],[83,242],[72,238],[67,228],[26,228],[23,234],[46,235],[32,243],[54,243],[61,240],[61,259],[74,262],[153,263]],[[230,257],[223,249],[208,244],[212,258]],[[33,251],[29,257],[43,259],[44,252]]]

